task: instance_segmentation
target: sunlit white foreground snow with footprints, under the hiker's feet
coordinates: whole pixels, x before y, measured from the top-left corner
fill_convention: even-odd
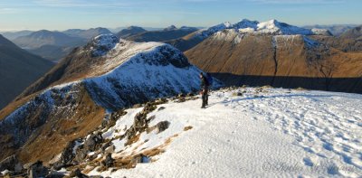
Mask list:
[[[233,93],[241,92],[236,97]],[[113,157],[162,147],[165,153],[137,164],[90,175],[110,177],[359,177],[362,175],[361,95],[336,92],[247,88],[158,106],[149,126],[170,122],[164,132],[142,133],[124,146],[115,140]],[[141,108],[126,110],[103,136],[120,136]],[[190,130],[184,130],[192,126]],[[165,145],[171,139],[169,145]],[[147,141],[147,142],[146,142]],[[119,151],[121,151],[119,153]]]

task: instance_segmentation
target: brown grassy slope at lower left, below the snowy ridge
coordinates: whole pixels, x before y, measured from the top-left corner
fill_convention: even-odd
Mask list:
[[[48,162],[60,154],[69,141],[86,136],[100,126],[104,109],[94,104],[83,86],[76,90],[77,94],[72,96],[74,99],[58,99],[52,111],[41,105],[28,113],[21,126],[16,127],[33,130],[30,135],[23,133],[27,129],[19,129],[21,133],[16,135],[11,131],[2,131],[5,133],[0,134],[7,139],[0,140],[0,160],[17,154],[23,163],[36,160]],[[25,141],[17,141],[19,136]]]

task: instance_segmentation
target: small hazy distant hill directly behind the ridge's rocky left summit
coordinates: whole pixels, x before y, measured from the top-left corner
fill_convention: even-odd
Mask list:
[[[96,36],[99,36],[100,34],[109,34],[111,32],[107,28],[98,27],[98,28],[90,28],[88,30],[70,29],[62,33],[68,34],[73,37],[79,37],[86,40],[90,40]]]

